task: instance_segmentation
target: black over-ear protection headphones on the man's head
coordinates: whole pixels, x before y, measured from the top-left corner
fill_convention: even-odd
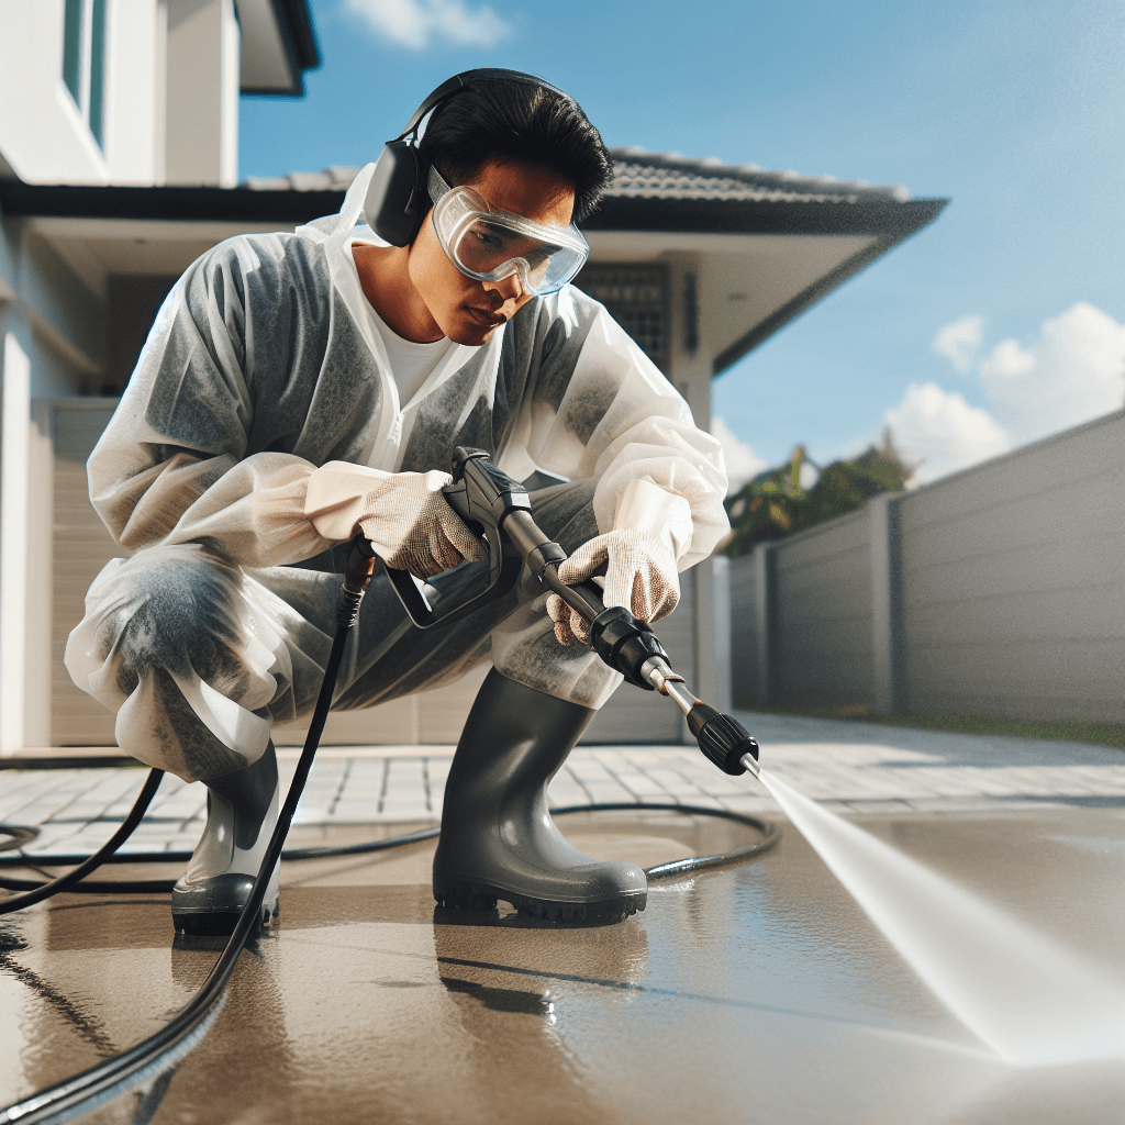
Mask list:
[[[414,241],[422,226],[422,219],[430,210],[430,168],[418,152],[417,129],[422,118],[442,102],[456,98],[474,82],[496,79],[539,86],[570,100],[569,94],[551,86],[550,82],[544,82],[534,74],[525,74],[523,71],[484,68],[454,74],[449,81],[442,82],[414,110],[406,123],[406,128],[394,141],[388,141],[382,146],[382,152],[376,162],[367,200],[363,204],[363,217],[367,219],[367,225],[380,238],[393,246],[408,245]]]

